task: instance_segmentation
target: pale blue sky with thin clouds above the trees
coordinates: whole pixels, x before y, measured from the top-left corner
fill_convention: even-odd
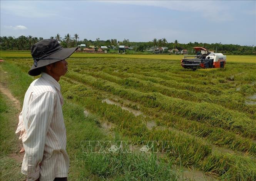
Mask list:
[[[0,36],[256,45],[256,1],[0,1]]]

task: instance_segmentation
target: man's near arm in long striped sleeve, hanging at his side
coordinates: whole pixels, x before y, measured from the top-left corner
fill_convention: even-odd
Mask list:
[[[35,181],[40,177],[45,139],[52,121],[56,96],[53,92],[38,95],[29,105],[28,130],[23,139],[25,156],[27,156],[27,180]]]

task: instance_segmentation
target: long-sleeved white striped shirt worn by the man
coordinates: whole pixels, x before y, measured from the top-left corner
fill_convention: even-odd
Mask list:
[[[60,84],[52,76],[42,73],[30,84],[16,130],[25,149],[22,173],[28,181],[67,177],[69,156],[62,105]]]

